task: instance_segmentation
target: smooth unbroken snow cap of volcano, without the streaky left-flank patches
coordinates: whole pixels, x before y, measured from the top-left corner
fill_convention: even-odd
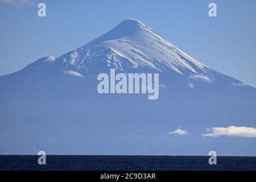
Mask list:
[[[93,48],[109,48],[113,55],[109,57],[108,61],[112,63],[109,65],[118,69],[123,67],[120,60],[125,59],[133,68],[152,68],[161,72],[171,69],[183,74],[208,70],[136,19],[123,20],[117,27],[82,48],[88,52]]]

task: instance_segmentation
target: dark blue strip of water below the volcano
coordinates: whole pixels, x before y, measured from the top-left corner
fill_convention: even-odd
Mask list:
[[[46,165],[37,155],[0,155],[0,170],[256,170],[256,157],[47,155]]]

